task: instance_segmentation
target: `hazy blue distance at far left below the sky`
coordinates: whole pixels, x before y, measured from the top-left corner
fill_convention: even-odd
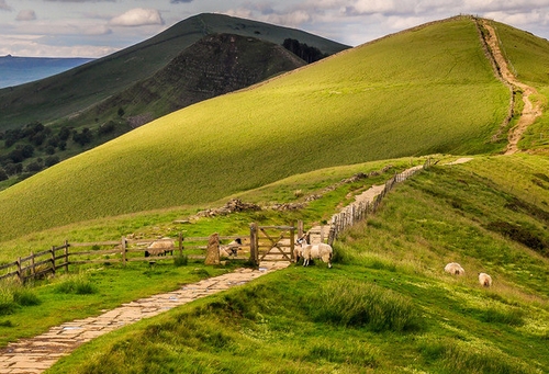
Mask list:
[[[0,89],[55,76],[92,58],[0,57]]]

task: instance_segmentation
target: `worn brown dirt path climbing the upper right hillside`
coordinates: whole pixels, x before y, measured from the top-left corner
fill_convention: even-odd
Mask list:
[[[492,49],[492,55],[500,67],[502,78],[507,81],[513,87],[517,87],[523,91],[524,109],[518,120],[518,124],[514,126],[508,133],[508,145],[505,149],[505,155],[513,155],[518,151],[517,144],[520,140],[526,128],[531,125],[538,116],[542,114],[539,103],[534,105],[530,101],[530,95],[538,93],[534,87],[520,82],[511,71],[507,61],[502,55],[500,49],[500,43],[494,29],[486,22],[483,21],[484,27],[489,31],[490,35],[486,38],[486,43]]]

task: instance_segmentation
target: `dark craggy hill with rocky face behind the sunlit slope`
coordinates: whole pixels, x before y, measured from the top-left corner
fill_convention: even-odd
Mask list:
[[[186,48],[150,78],[71,117],[70,122],[122,117],[135,128],[304,65],[304,60],[278,44],[236,34],[211,34]],[[123,115],[117,115],[120,110]]]

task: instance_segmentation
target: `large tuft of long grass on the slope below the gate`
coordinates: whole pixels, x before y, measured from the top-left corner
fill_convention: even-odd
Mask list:
[[[421,328],[413,303],[390,290],[354,280],[328,283],[312,296],[311,314],[316,321],[346,327],[366,326],[372,331],[405,331]]]

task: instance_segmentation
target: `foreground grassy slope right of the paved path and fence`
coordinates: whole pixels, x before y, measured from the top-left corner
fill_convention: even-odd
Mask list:
[[[341,235],[333,269],[292,264],[103,336],[51,372],[547,373],[548,162],[440,162]],[[494,230],[502,222],[545,245]],[[445,273],[450,261],[466,274]]]

